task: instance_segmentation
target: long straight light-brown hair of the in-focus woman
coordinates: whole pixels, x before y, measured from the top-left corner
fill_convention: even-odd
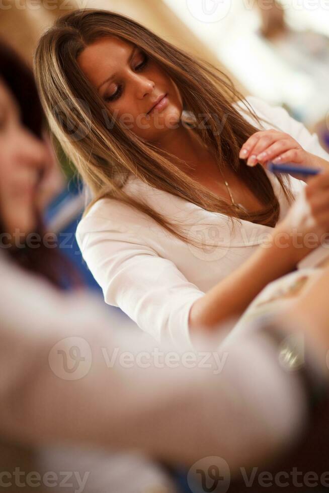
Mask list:
[[[116,36],[137,45],[177,85],[184,110],[195,117],[194,131],[214,152],[218,168],[230,166],[264,204],[247,213],[228,204],[172,162],[174,156],[137,137],[114,118],[77,63],[78,55],[94,41]],[[264,169],[246,166],[239,159],[242,144],[257,128],[246,121],[233,103],[261,122],[230,78],[207,61],[177,48],[129,17],[104,10],[76,10],[59,18],[41,37],[35,52],[35,74],[50,128],[87,183],[93,200],[108,197],[149,215],[183,241],[193,241],[163,214],[122,189],[132,174],[148,185],[228,217],[274,226],[280,205]],[[203,124],[207,115],[207,125]],[[111,119],[111,131],[106,119]],[[224,122],[224,125],[222,125]],[[272,124],[273,125],[273,124]],[[163,155],[164,154],[164,155]],[[175,156],[176,157],[176,156]],[[177,158],[176,158],[177,159]],[[293,200],[287,177],[279,177],[289,202]],[[195,244],[195,243],[194,243]]]

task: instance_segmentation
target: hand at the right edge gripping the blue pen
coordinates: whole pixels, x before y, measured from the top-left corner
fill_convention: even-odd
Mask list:
[[[329,168],[312,177],[297,196],[275,233],[284,233],[298,263],[329,239]],[[281,240],[280,240],[281,241]],[[280,242],[279,241],[279,242]],[[283,241],[281,241],[283,244]],[[285,248],[285,247],[282,247]]]

